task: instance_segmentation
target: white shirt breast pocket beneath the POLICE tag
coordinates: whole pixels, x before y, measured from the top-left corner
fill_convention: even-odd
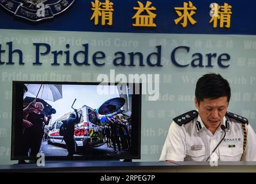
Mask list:
[[[220,161],[240,161],[243,154],[243,146],[220,147]]]

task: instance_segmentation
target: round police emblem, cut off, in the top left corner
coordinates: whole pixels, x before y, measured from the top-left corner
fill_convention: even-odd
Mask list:
[[[0,5],[15,16],[29,21],[53,18],[69,8],[75,0],[0,0]]]

